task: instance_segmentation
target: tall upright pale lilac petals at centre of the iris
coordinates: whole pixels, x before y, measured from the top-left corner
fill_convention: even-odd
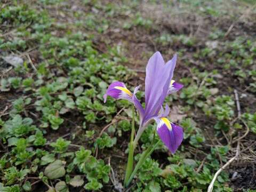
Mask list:
[[[161,109],[170,86],[176,60],[177,55],[174,55],[172,60],[163,65],[164,61],[159,52],[149,59],[145,82],[145,122],[157,116]]]

